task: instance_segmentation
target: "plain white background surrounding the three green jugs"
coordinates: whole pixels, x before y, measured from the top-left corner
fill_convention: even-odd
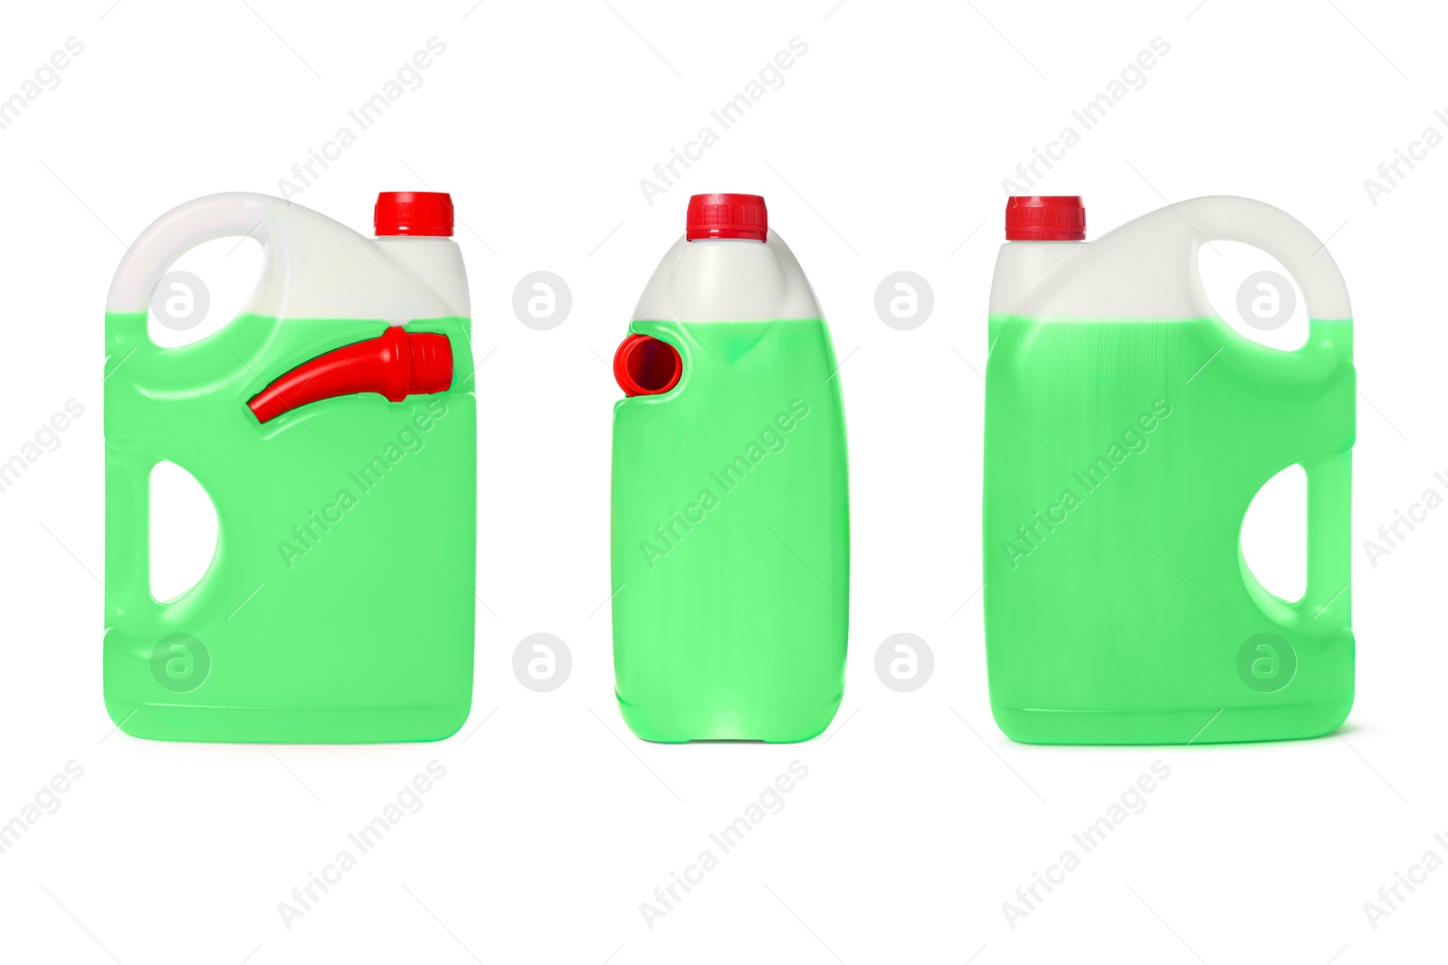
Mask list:
[[[67,38],[84,52],[0,130],[0,460],[67,399],[84,415],[0,492],[0,822],[68,761],[84,777],[0,855],[0,958],[65,962],[1386,962],[1444,956],[1448,870],[1371,927],[1364,903],[1448,833],[1448,511],[1374,567],[1363,541],[1448,492],[1441,278],[1448,148],[1374,205],[1364,178],[1426,126],[1448,67],[1429,4],[1174,0],[970,4],[93,0],[4,14],[0,97]],[[472,9],[469,9],[472,7]],[[437,36],[446,54],[297,201],[371,230],[379,190],[450,191],[479,398],[472,719],[391,747],[177,745],[101,703],[101,315],[153,217],[277,194],[308,149]],[[650,207],[640,178],[802,38],[809,49]],[[985,314],[1002,179],[1156,36],[1170,54],[1044,181],[1093,236],[1200,194],[1297,216],[1342,266],[1360,372],[1352,586],[1358,700],[1290,744],[1041,748],[986,699],[980,598]],[[1405,169],[1406,171],[1406,169]],[[794,747],[634,739],[611,696],[604,363],[698,191],[766,195],[844,360],[853,502],[849,684]],[[566,321],[520,324],[552,271]],[[885,275],[934,288],[912,331]],[[219,282],[220,284],[220,282]],[[966,365],[969,362],[969,366]],[[1441,516],[1441,518],[1439,518]],[[571,679],[533,693],[517,642]],[[933,679],[875,676],[895,632]],[[437,760],[446,777],[288,929],[278,903]],[[640,901],[791,761],[809,768],[649,929]],[[1009,927],[1002,903],[1154,761],[1170,777]],[[1403,893],[1406,894],[1406,891]]]

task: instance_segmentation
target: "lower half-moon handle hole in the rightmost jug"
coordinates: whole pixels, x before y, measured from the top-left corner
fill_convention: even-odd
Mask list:
[[[1296,603],[1308,592],[1308,473],[1287,466],[1263,483],[1242,518],[1242,558],[1263,589]]]

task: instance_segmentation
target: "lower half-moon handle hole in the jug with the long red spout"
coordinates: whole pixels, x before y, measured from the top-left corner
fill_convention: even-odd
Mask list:
[[[151,469],[151,596],[174,603],[216,557],[216,505],[195,476],[175,463]]]

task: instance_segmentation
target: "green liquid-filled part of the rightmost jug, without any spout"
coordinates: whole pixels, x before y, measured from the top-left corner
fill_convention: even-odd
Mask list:
[[[990,320],[985,629],[1032,744],[1306,738],[1352,706],[1352,323],[1279,352],[1215,318]],[[1248,570],[1258,489],[1302,464],[1297,602]]]

